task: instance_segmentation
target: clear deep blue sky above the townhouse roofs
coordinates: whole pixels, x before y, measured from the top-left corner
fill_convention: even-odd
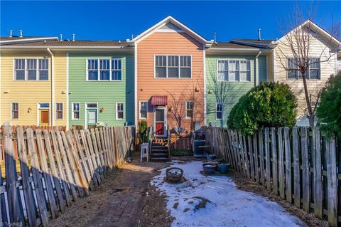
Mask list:
[[[279,23],[296,4],[309,1],[0,1],[1,36],[23,30],[24,36],[59,36],[92,40],[125,40],[168,15],[200,35],[217,41],[232,38],[280,38]],[[341,21],[341,1],[318,1],[315,21],[330,28]]]

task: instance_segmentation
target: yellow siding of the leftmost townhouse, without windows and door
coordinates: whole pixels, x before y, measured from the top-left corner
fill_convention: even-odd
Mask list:
[[[47,81],[19,81],[13,80],[13,67],[15,58],[44,58],[49,60],[49,80]],[[65,90],[65,54],[55,58],[54,81],[55,102],[66,103],[66,95],[60,90]],[[62,71],[60,71],[63,69]],[[9,93],[4,94],[4,91]],[[11,122],[11,125],[37,125],[38,124],[38,103],[50,103],[50,125],[51,112],[51,58],[47,51],[32,53],[1,53],[1,125],[4,122]],[[19,119],[11,120],[11,102],[19,103]],[[65,104],[64,104],[65,105]],[[31,108],[31,112],[28,109]],[[54,111],[54,104],[53,104]],[[65,115],[65,111],[64,111]],[[66,116],[66,115],[65,115]],[[66,117],[63,120],[55,121],[53,125],[66,125]]]

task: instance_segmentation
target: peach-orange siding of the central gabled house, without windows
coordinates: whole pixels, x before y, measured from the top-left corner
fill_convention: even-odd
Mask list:
[[[140,41],[137,45],[137,116],[139,120],[139,102],[150,101],[153,95],[168,95],[168,107],[172,108],[170,103],[171,95],[175,100],[180,100],[180,93],[190,94],[188,90],[197,88],[195,94],[197,102],[195,109],[197,119],[200,119],[203,125],[203,48],[199,43],[187,33],[176,32],[156,32]],[[154,78],[154,56],[155,55],[190,55],[192,56],[192,78]],[[185,100],[183,100],[183,109],[185,109]],[[184,110],[185,111],[185,110]],[[196,111],[195,111],[196,112]],[[201,116],[201,117],[200,117]],[[148,125],[153,125],[153,107],[150,102],[148,105]],[[183,119],[182,127],[190,129],[191,120]],[[168,111],[168,125],[175,125],[171,114]]]

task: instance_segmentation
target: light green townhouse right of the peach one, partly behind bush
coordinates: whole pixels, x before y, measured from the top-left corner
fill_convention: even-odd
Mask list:
[[[247,51],[217,52],[207,51],[206,55],[207,125],[227,127],[229,112],[239,98],[266,81],[266,56],[258,48],[245,54],[241,53]]]

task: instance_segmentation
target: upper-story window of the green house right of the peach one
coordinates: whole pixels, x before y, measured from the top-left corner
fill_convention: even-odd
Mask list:
[[[218,81],[251,81],[250,60],[218,60]]]

